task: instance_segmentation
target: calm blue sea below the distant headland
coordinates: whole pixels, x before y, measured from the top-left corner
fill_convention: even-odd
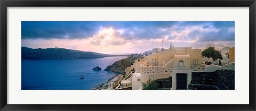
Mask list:
[[[84,90],[93,89],[99,83],[118,73],[103,71],[108,65],[126,57],[93,59],[21,60],[22,90]],[[101,71],[93,71],[93,67]],[[80,79],[84,76],[84,79]]]

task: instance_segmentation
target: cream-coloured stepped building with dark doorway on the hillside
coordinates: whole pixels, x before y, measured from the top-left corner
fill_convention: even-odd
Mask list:
[[[127,67],[126,76],[130,76],[132,89],[135,90],[143,89],[142,83],[147,83],[148,80],[171,76],[172,89],[188,89],[191,72],[205,71],[205,65],[201,64],[201,55],[201,49],[192,47],[153,48],[151,55],[140,61],[135,60],[132,66]],[[131,69],[134,69],[134,72]],[[121,85],[127,87],[125,82],[121,82]]]

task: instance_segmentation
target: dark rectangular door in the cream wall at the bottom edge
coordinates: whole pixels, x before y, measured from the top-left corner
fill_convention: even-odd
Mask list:
[[[176,89],[187,89],[187,75],[185,73],[176,74]]]

